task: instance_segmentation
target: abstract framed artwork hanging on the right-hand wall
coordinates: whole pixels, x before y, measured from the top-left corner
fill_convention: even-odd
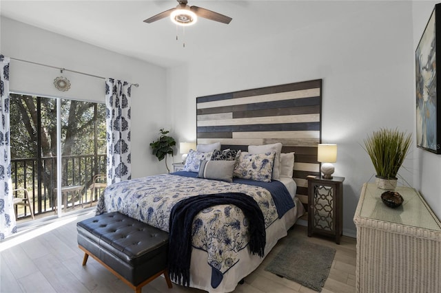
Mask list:
[[[441,153],[441,4],[436,4],[421,36],[416,57],[416,142],[432,153]],[[441,63],[440,63],[441,65]]]

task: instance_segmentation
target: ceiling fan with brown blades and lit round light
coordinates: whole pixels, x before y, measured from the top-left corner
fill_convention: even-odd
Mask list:
[[[198,17],[203,17],[204,19],[209,19],[212,21],[218,21],[220,23],[228,24],[232,21],[231,17],[227,17],[218,12],[214,12],[211,10],[207,10],[205,8],[201,8],[198,6],[188,6],[187,0],[176,0],[178,1],[178,6],[176,8],[172,8],[170,10],[165,10],[159,14],[150,17],[150,19],[145,19],[145,23],[152,23],[154,21],[158,21],[165,17],[169,17],[172,19],[174,23],[177,25],[192,25],[196,23]]]

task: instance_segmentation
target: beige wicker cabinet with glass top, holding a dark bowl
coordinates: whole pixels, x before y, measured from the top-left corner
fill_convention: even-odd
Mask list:
[[[413,188],[397,187],[404,202],[392,209],[384,190],[364,184],[357,227],[356,292],[441,292],[441,224]]]

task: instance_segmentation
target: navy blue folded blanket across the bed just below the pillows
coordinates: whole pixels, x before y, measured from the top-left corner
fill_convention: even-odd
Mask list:
[[[178,171],[172,174],[183,177],[193,177],[193,178],[198,177],[198,173],[195,172]],[[267,189],[267,191],[269,191],[269,193],[271,193],[271,196],[273,197],[274,205],[277,208],[279,219],[281,219],[283,215],[287,213],[288,210],[294,208],[295,206],[294,201],[292,200],[291,195],[289,195],[289,191],[287,190],[285,184],[283,184],[280,181],[273,180],[271,182],[262,182],[262,181],[233,178],[233,183],[260,186]]]

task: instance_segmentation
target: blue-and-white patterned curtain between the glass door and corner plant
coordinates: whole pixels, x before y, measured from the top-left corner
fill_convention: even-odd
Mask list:
[[[107,183],[132,179],[130,168],[130,87],[126,81],[105,79]]]

